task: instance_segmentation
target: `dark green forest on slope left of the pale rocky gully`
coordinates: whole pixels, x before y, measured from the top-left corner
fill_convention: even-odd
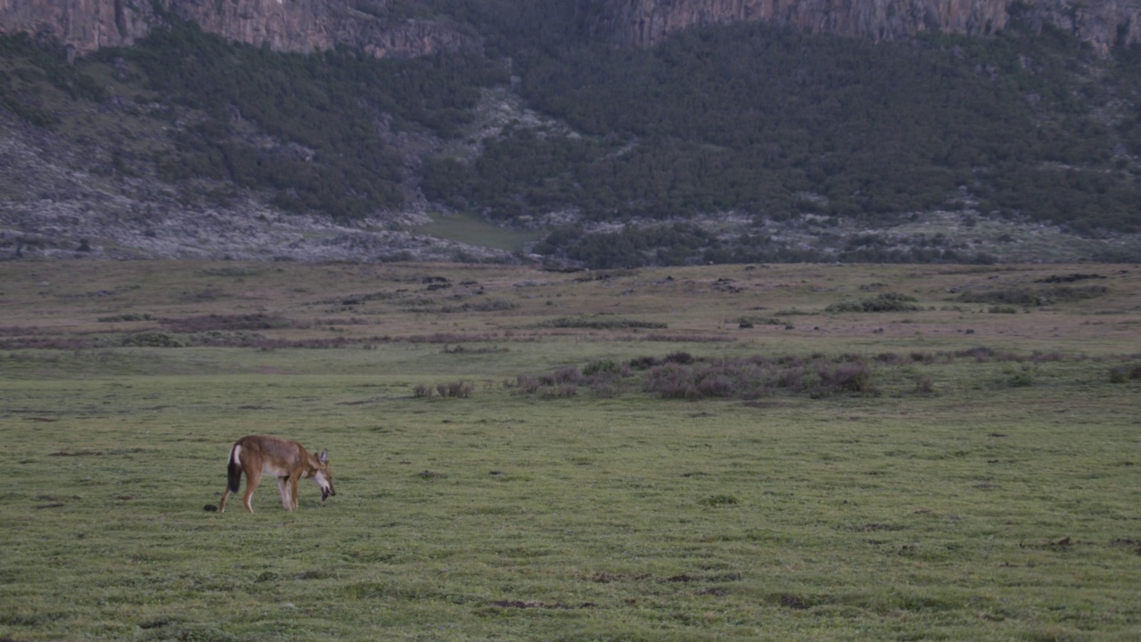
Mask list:
[[[470,119],[479,87],[504,81],[480,57],[378,61],[347,49],[275,54],[172,22],[139,47],[99,53],[138,63],[149,89],[204,112],[178,133],[179,153],[162,160],[162,175],[268,187],[277,194],[275,204],[291,211],[358,218],[399,207],[404,160],[383,141],[383,129],[453,137]],[[249,144],[234,130],[235,115],[311,150],[311,157]]]

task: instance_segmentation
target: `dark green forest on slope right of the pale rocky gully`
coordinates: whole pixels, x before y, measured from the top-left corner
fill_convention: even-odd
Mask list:
[[[591,219],[874,219],[965,188],[986,214],[1136,230],[1136,117],[1090,115],[1099,96],[1083,93],[1103,90],[1081,81],[1084,57],[1059,33],[872,43],[763,25],[536,55],[525,96],[585,136],[515,131],[467,171],[438,161],[428,185],[491,216],[574,203]]]

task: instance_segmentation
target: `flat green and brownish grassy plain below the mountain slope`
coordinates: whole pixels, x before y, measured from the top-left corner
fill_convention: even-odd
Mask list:
[[[1139,330],[1132,265],[3,263],[0,639],[1134,640]],[[517,385],[681,353],[872,375]],[[250,433],[337,497],[205,511]]]

